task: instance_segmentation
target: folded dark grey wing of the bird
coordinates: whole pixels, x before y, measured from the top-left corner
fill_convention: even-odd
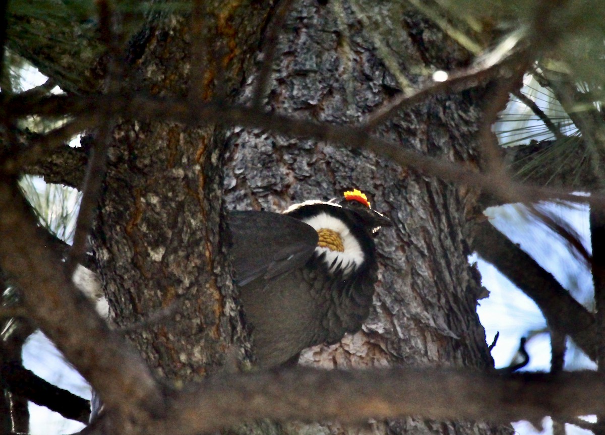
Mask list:
[[[319,240],[312,226],[280,213],[231,211],[227,221],[238,286],[304,266]]]

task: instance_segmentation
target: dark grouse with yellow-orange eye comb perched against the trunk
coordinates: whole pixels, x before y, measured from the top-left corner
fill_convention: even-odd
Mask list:
[[[362,192],[228,219],[258,366],[296,362],[304,348],[361,329],[378,279],[373,236],[391,224]]]

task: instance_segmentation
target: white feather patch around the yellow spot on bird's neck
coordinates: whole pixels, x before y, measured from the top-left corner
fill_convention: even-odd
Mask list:
[[[330,267],[332,272],[340,268],[344,270],[344,275],[348,275],[348,273],[353,272],[353,270],[357,269],[364,262],[364,252],[361,250],[359,242],[355,236],[351,234],[347,224],[339,218],[335,218],[326,213],[320,213],[316,216],[303,219],[302,221],[315,228],[315,231],[318,231],[321,228],[327,228],[337,232],[340,236],[344,252],[339,252],[323,246],[315,248],[315,252],[318,254],[325,252],[325,263]]]

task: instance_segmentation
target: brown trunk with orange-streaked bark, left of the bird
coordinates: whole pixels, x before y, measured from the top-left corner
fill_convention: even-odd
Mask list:
[[[223,54],[221,62],[201,57],[195,66],[204,69],[191,74],[192,41],[201,36],[190,32],[188,19],[173,16],[150,23],[146,38],[136,39],[131,51],[139,55],[127,87],[183,97],[189,80],[202,77],[195,93],[208,97],[217,74],[227,91],[241,80],[269,7],[266,2],[206,7],[212,14],[201,30]],[[205,376],[229,355],[233,362],[243,359],[244,332],[219,238],[224,234],[221,134],[214,128],[122,122],[113,138],[93,244],[117,324],[175,308],[162,321],[128,333],[151,367],[168,379]]]

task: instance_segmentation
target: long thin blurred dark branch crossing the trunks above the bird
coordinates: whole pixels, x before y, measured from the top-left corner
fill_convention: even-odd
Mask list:
[[[216,102],[196,102],[190,104],[181,100],[161,99],[145,96],[99,96],[99,97],[63,97],[53,96],[39,101],[31,107],[24,105],[18,97],[10,100],[8,109],[15,116],[26,114],[62,114],[79,116],[86,119],[90,127],[100,121],[97,108],[111,103],[117,116],[128,119],[162,120],[182,123],[189,126],[208,125],[215,122],[231,122],[233,125],[250,128],[267,128],[286,136],[312,137],[316,140],[335,143],[351,148],[362,148],[377,155],[390,158],[393,162],[413,168],[423,174],[439,177],[447,182],[462,183],[482,189],[484,192],[500,198],[502,203],[535,202],[558,198],[574,202],[605,203],[603,195],[590,197],[568,194],[563,189],[549,189],[516,182],[501,182],[500,178],[482,174],[474,168],[437,159],[411,149],[405,149],[399,143],[389,142],[368,134],[364,128],[352,125],[331,125],[311,120],[293,119],[280,114],[261,113],[255,108],[239,105],[226,105]],[[39,156],[38,156],[39,158]],[[27,161],[27,158],[23,158]],[[10,160],[5,168],[13,170]]]

